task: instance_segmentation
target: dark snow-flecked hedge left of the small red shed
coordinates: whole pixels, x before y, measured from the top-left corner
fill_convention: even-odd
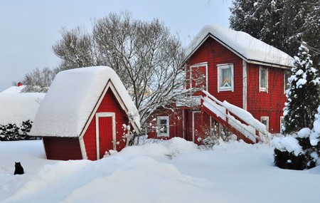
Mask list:
[[[36,137],[28,136],[32,127],[32,121],[26,120],[18,127],[16,124],[0,125],[0,140],[14,141],[14,140],[35,140]]]

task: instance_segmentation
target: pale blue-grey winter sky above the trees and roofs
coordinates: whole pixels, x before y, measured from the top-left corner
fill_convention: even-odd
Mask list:
[[[229,26],[231,0],[0,0],[0,92],[35,68],[55,68],[61,28],[83,26],[110,12],[159,19],[187,46],[207,24]]]

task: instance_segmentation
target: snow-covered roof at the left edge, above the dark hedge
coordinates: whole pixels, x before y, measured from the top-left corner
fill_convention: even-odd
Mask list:
[[[33,121],[45,93],[20,93],[24,86],[13,86],[0,93],[0,125],[21,125]]]

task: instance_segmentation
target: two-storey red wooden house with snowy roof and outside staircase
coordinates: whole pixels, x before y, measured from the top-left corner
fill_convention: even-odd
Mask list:
[[[247,33],[205,26],[187,48],[184,63],[187,88],[203,88],[206,94],[198,91],[188,98],[198,100],[193,108],[176,107],[160,113],[151,122],[157,130],[149,137],[178,136],[198,142],[203,130],[212,129],[215,123],[250,143],[255,140],[248,140],[247,133],[242,132],[252,131],[250,127],[255,135],[266,130],[280,132],[291,56]],[[240,109],[255,120],[241,118]],[[235,126],[239,121],[247,127]]]

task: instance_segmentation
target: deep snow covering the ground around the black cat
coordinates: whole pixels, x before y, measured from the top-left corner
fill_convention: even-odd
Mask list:
[[[181,138],[97,161],[46,160],[40,140],[0,142],[0,202],[318,202],[320,167],[281,170],[268,145],[199,150]],[[21,162],[24,175],[14,174]]]

